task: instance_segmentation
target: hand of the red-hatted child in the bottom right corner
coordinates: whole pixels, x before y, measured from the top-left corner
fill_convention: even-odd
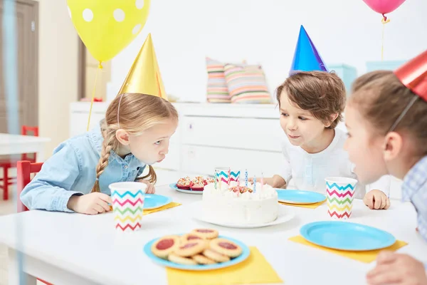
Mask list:
[[[381,252],[376,259],[376,267],[367,274],[367,282],[370,285],[426,285],[426,269],[420,261],[406,254]]]

